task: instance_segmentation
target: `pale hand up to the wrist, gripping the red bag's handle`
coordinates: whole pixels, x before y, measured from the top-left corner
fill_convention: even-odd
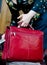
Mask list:
[[[20,19],[20,21],[18,21],[18,24],[22,27],[27,27],[30,22],[28,14],[22,14],[18,17],[18,19]]]

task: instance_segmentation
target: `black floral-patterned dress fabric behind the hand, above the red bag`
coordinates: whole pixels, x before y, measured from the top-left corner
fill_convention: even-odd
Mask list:
[[[17,0],[17,5],[12,0],[6,0],[7,5],[12,14],[11,18],[11,26],[17,26],[17,22],[19,21],[17,17],[19,16],[19,10],[23,10],[24,13],[27,13],[31,9],[31,5],[33,5],[33,0],[31,3],[28,3],[28,0]]]

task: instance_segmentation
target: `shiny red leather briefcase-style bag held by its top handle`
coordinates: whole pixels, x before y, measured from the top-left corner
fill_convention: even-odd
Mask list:
[[[38,30],[7,28],[2,59],[11,61],[43,60],[43,35],[43,32]]]

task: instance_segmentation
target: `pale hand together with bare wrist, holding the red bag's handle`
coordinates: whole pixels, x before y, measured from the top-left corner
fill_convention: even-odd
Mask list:
[[[18,24],[19,24],[19,26],[18,27],[20,27],[20,26],[22,26],[22,27],[27,27],[28,25],[29,25],[29,22],[30,22],[30,20],[32,19],[32,17],[34,16],[36,14],[36,12],[34,12],[34,11],[30,11],[29,13],[27,13],[27,14],[22,14],[22,15],[20,15],[19,17],[18,17],[18,19],[20,19],[20,21],[18,21]]]

